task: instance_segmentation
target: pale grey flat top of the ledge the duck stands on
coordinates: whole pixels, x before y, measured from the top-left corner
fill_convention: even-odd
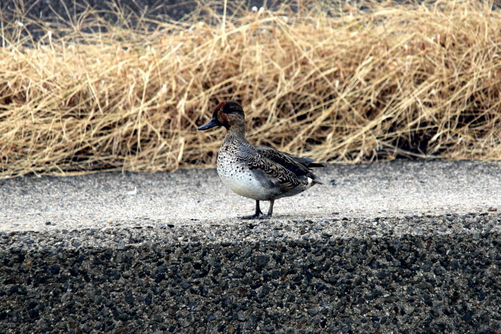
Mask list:
[[[318,174],[325,185],[277,200],[272,221],[501,210],[499,163],[394,161],[333,165]],[[214,169],[0,180],[0,231],[224,224],[254,207]]]

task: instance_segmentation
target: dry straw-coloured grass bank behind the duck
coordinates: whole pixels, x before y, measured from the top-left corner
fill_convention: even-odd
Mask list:
[[[37,23],[38,42],[4,23],[0,177],[211,166],[223,130],[196,127],[227,99],[250,142],[321,161],[499,160],[501,12],[364,5],[224,18],[207,6],[205,21],[153,32],[87,13]],[[83,32],[93,24],[108,32]]]

